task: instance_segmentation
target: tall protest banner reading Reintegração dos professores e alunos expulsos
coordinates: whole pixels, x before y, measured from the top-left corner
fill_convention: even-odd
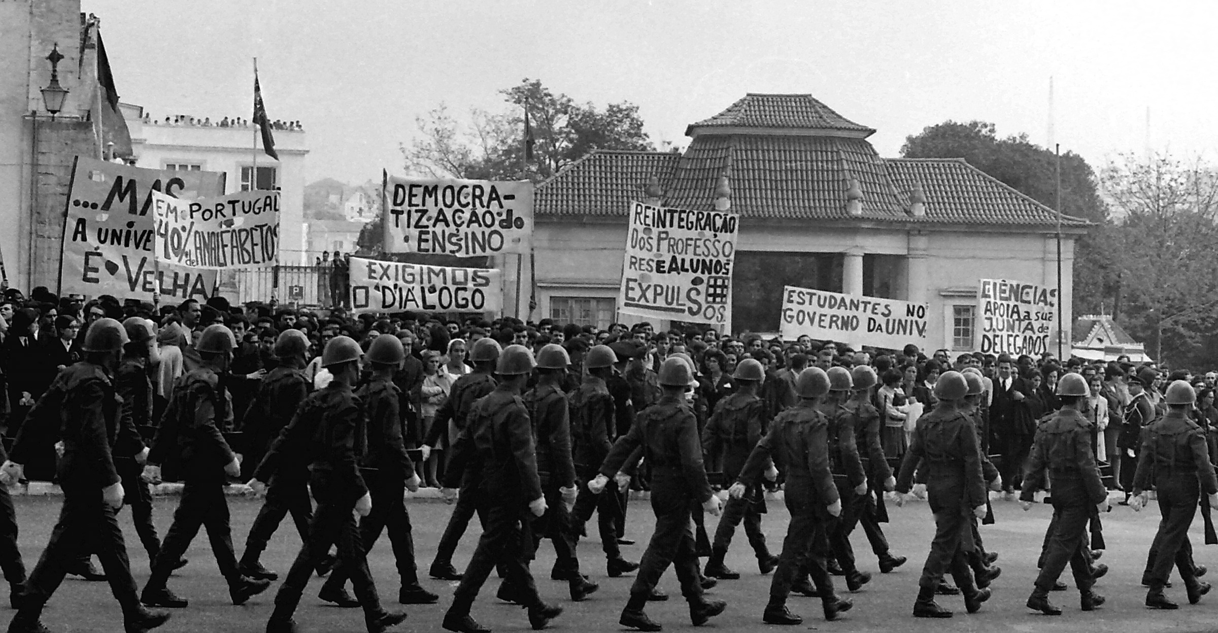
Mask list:
[[[739,215],[631,202],[618,312],[723,326]]]

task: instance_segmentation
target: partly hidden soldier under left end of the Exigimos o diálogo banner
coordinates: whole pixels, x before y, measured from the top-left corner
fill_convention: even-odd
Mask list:
[[[381,335],[373,340],[365,359],[373,365],[373,377],[356,396],[364,402],[368,411],[368,454],[361,465],[371,493],[373,511],[359,520],[359,542],[367,555],[381,531],[387,528],[397,573],[402,579],[398,604],[434,604],[440,596],[419,584],[410,514],[403,502],[406,491],[419,491],[419,474],[406,453],[403,441],[400,413],[402,390],[393,382],[393,372],[406,359],[406,348],[396,336]],[[343,588],[346,582],[346,570],[339,567],[322,587],[319,598],[339,606],[359,606],[359,601]]]

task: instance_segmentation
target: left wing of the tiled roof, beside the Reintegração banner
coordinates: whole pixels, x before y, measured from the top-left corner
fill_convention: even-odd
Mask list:
[[[681,156],[672,152],[594,150],[537,185],[538,215],[625,215],[626,205],[643,198],[650,177],[672,178]]]

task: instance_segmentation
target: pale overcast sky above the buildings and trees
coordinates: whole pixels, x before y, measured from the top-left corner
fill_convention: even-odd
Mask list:
[[[248,118],[258,57],[272,119],[301,121],[307,181],[402,172],[398,144],[441,101],[504,107],[524,78],[598,106],[632,101],[652,140],[745,93],[810,93],[876,128],[882,156],[946,119],[1117,152],[1218,147],[1218,2],[709,0],[83,0],[124,102]]]

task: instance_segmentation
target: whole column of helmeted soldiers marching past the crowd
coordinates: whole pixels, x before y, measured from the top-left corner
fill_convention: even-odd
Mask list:
[[[325,346],[324,371],[311,385],[302,374],[306,341],[292,332],[279,336],[275,355],[280,365],[267,376],[244,425],[257,437],[251,455],[257,455],[258,464],[250,486],[263,492],[266,500],[239,560],[223,492],[227,478],[241,472],[241,458],[222,432],[231,427],[224,376],[236,347],[233,334],[223,325],[202,332],[196,344],[202,364],[179,379],[156,438],[145,447],[135,421],[147,421],[151,399],[146,381],[134,379],[146,358],[151,330],[143,319],[125,324],[100,319],[90,326],[85,360],[65,369],[29,411],[55,422],[23,425],[12,454],[0,466],[0,483],[10,483],[21,478],[21,465],[30,454],[54,446],[65,491],[60,521],[27,577],[16,549],[12,502],[0,487],[5,510],[0,512],[0,568],[17,607],[9,631],[46,631],[39,622],[44,605],[63,576],[88,565],[94,554],[122,606],[125,631],[163,624],[168,612],[147,607],[188,606],[167,581],[184,564],[181,555],[200,527],[208,532],[233,603],[244,604],[278,578],[262,566],[259,555],[287,514],[302,545],[274,598],[269,633],[300,631],[292,616],[309,577],[331,573],[331,568],[319,594],[323,600],[362,607],[365,626],[374,633],[403,622],[406,614],[384,609],[368,567],[367,551],[382,531],[389,532],[397,561],[398,603],[438,601],[419,582],[403,504],[404,491],[418,489],[419,476],[403,441],[409,404],[395,383],[407,355],[402,342],[381,336],[364,353],[353,340],[337,336]],[[882,572],[905,562],[888,549],[878,503],[883,492],[896,491],[903,494],[900,504],[915,482],[926,484],[935,536],[914,615],[952,616],[937,595],[962,594],[968,614],[990,598],[988,587],[1000,570],[993,565],[996,554],[984,549],[978,527],[990,512],[988,491],[1001,491],[1004,482],[983,449],[980,404],[987,387],[976,370],[945,371],[938,377],[933,390],[938,403],[917,421],[894,476],[879,441],[872,393],[876,375],[867,366],[853,372],[809,366],[787,381],[784,396],[773,397],[766,382],[783,379],[767,372],[762,362],[744,359],[732,376],[734,392],[708,411],[688,357],[669,354],[653,372],[635,363],[644,352],[625,341],[616,348],[592,347],[582,354],[576,385],[569,375],[571,358],[560,346],[543,347],[535,359],[519,344],[501,348],[491,338],[474,343],[475,371],[453,386],[423,450],[425,458],[440,433],[453,436],[443,495],[457,505],[430,570],[432,577],[459,581],[443,628],[490,631],[471,612],[495,568],[503,577],[497,595],[525,607],[532,628],[544,628],[557,618],[561,607],[542,599],[530,571],[543,538],[553,542],[558,554],[551,576],[569,583],[575,601],[593,594],[598,586],[582,573],[577,558],[579,539],[592,512],[598,514],[608,575],[637,570],[621,611],[622,626],[661,629],[646,605],[666,599],[658,583],[669,565],[676,570],[693,624],[723,612],[726,604],[708,599],[705,590],[715,579],[739,577],[725,558],[742,522],[759,571],[775,572],[762,621],[801,623],[787,607],[792,592],[818,596],[825,618],[834,620],[853,604],[837,594],[833,572],[840,571],[849,592],[871,581],[850,545],[855,526],[867,532]],[[1066,374],[1055,387],[1062,407],[1039,421],[1021,488],[1024,509],[1039,488],[1047,486],[1052,493],[1054,519],[1027,600],[1029,609],[1046,615],[1062,612],[1049,594],[1060,588],[1067,564],[1085,611],[1104,604],[1094,584],[1106,571],[1094,564],[1088,538],[1088,523],[1097,522],[1097,514],[1107,510],[1094,453],[1096,430],[1082,414],[1088,386],[1080,376]],[[1208,495],[1211,506],[1218,504],[1205,431],[1188,418],[1195,399],[1184,381],[1168,387],[1166,413],[1141,433],[1133,475],[1130,505],[1140,510],[1146,491],[1153,488],[1163,517],[1144,578],[1146,606],[1153,609],[1177,609],[1164,593],[1173,565],[1190,604],[1209,590],[1199,579],[1205,570],[1194,562],[1188,539],[1200,495]],[[185,487],[173,525],[160,543],[155,530],[149,531],[144,482],[158,482],[161,465],[172,455],[177,455]],[[708,464],[717,470],[708,472]],[[135,476],[136,465],[143,465],[143,481]],[[635,564],[621,558],[619,540],[624,491],[639,467],[649,472],[655,530]],[[713,478],[730,484],[726,506]],[[764,489],[780,481],[790,521],[782,551],[775,556],[760,522]],[[152,559],[143,594],[136,592],[117,523],[124,502],[133,505]],[[699,536],[705,539],[699,534],[703,514],[721,511],[708,551],[699,551]],[[482,534],[459,572],[452,555],[474,515]],[[710,558],[705,570],[702,555]],[[943,581],[948,573],[955,588]],[[354,596],[346,590],[348,579]]]

